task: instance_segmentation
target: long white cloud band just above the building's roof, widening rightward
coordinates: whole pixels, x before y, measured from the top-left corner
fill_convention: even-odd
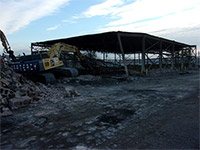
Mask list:
[[[199,8],[200,10],[200,8]],[[156,32],[167,29],[181,29],[200,26],[198,21],[198,15],[200,14],[198,9],[191,9],[187,11],[178,12],[176,14],[170,14],[159,18],[149,19],[140,22],[133,22],[120,25],[109,25],[102,27],[99,31],[111,31],[111,30],[124,30],[132,32]],[[191,17],[192,16],[192,17]]]

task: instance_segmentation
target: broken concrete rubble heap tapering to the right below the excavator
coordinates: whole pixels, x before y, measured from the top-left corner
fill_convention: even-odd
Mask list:
[[[14,72],[2,57],[0,57],[0,62],[0,116],[12,115],[12,110],[27,106],[39,99],[56,102],[58,97],[73,99],[75,96],[80,96],[77,89],[72,86],[34,83]]]

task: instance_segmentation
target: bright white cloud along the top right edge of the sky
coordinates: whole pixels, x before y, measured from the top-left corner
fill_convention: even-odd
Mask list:
[[[108,26],[145,22],[165,16],[175,16],[177,13],[190,9],[198,9],[198,0],[136,0],[112,12],[119,19],[108,23]]]

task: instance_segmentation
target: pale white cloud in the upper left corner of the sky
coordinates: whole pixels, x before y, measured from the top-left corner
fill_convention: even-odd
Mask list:
[[[0,1],[0,28],[7,34],[30,22],[55,13],[70,0],[2,0]]]

